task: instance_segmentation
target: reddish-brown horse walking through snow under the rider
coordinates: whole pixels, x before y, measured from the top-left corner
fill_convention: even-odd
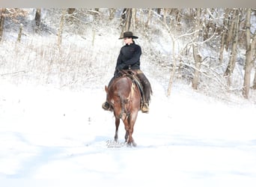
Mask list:
[[[129,146],[135,147],[132,138],[133,127],[141,108],[141,93],[130,76],[125,74],[114,79],[111,85],[105,87],[107,101],[115,115],[115,141],[118,141],[118,127],[120,120],[124,122],[126,130],[125,141]]]

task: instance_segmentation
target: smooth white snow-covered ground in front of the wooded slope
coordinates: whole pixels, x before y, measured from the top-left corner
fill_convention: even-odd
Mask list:
[[[139,112],[135,123],[138,147],[123,144],[123,123],[112,144],[115,119],[101,108],[103,86],[68,91],[1,81],[1,186],[255,186],[256,105],[182,84],[166,97],[150,81],[150,113]]]

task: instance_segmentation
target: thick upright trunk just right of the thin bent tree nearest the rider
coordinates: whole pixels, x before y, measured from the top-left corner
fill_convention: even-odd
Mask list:
[[[195,20],[195,34],[194,38],[196,39],[195,42],[199,41],[199,32],[202,28],[202,23],[201,23],[201,8],[198,8],[197,10],[197,18]],[[193,89],[198,89],[198,82],[199,82],[199,76],[200,76],[200,68],[201,68],[201,55],[199,53],[198,49],[198,43],[193,44],[193,57],[195,60],[195,70],[194,70],[194,77],[192,79],[192,88]]]

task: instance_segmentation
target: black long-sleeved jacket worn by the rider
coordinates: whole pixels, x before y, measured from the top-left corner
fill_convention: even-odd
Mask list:
[[[135,44],[126,44],[121,48],[118,55],[116,70],[139,70],[140,69],[141,47]]]

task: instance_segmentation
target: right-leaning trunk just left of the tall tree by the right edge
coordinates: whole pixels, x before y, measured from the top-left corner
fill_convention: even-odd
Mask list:
[[[236,59],[237,59],[237,43],[238,43],[238,31],[239,31],[239,25],[240,25],[240,13],[237,10],[237,19],[234,26],[234,39],[232,43],[232,49],[231,49],[231,58],[228,62],[228,67],[225,71],[224,76],[228,78],[228,85],[231,85],[231,75],[234,72],[234,67],[236,65]]]

